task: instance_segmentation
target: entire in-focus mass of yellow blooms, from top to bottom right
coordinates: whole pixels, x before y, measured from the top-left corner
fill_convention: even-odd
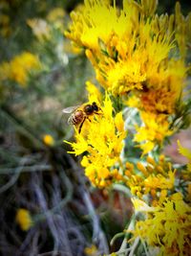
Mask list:
[[[130,189],[136,212],[146,213],[144,221],[136,220],[133,239],[158,247],[159,255],[189,255],[191,153],[180,146],[189,159],[187,170],[180,174],[158,150],[165,137],[178,130],[175,121],[184,120],[188,108],[183,89],[191,15],[183,17],[178,3],[176,15],[159,16],[157,2],[124,0],[119,10],[116,1],[85,0],[72,12],[65,35],[85,49],[106,96],[103,101],[97,88],[87,83],[89,104],[96,102],[99,111],[86,119],[81,132],[75,128],[75,142],[69,144],[72,153],[83,154],[81,165],[93,185],[105,188],[116,182],[124,191]],[[159,160],[126,158],[124,124],[128,126],[131,117],[129,123],[123,121],[123,106],[130,114],[130,107],[138,109],[140,122],[132,122],[138,124],[133,143],[138,143],[142,155],[155,150]],[[183,186],[178,187],[181,176]],[[180,193],[174,194],[176,190]]]

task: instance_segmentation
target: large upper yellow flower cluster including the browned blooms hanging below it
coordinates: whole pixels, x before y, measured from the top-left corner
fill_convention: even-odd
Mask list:
[[[179,3],[176,15],[159,16],[156,9],[155,0],[123,1],[121,10],[116,1],[110,5],[109,1],[85,0],[83,7],[72,12],[73,22],[65,33],[85,48],[97,81],[108,92],[114,96],[131,92],[138,99],[144,127],[138,128],[135,140],[143,153],[173,133],[169,115],[175,114],[185,86],[184,58],[191,39],[185,33],[191,33],[191,15],[184,18]]]

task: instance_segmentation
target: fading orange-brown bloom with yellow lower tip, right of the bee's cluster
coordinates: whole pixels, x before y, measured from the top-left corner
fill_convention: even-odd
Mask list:
[[[135,141],[140,143],[138,147],[142,154],[152,151],[156,145],[161,146],[164,139],[176,131],[176,128],[171,128],[172,116],[180,111],[185,72],[181,60],[169,61],[169,68],[161,73],[159,71],[152,78],[150,88],[145,87],[132,96],[138,98],[136,105],[132,105],[132,97],[126,102],[127,105],[138,107],[140,112],[143,125],[137,127]]]

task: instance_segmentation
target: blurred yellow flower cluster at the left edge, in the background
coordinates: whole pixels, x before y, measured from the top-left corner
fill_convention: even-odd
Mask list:
[[[0,81],[16,81],[21,86],[27,85],[30,72],[40,68],[39,59],[32,53],[24,52],[0,65]]]

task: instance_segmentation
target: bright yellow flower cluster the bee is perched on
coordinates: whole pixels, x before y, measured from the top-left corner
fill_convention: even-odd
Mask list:
[[[95,95],[91,99],[99,105]],[[67,142],[74,150],[71,153],[87,153],[82,157],[81,165],[85,168],[85,175],[96,187],[109,186],[115,180],[121,179],[118,165],[126,132],[122,113],[118,112],[114,116],[113,110],[111,99],[106,95],[99,113],[90,117],[90,121],[84,122],[80,133],[75,130],[76,141]]]

